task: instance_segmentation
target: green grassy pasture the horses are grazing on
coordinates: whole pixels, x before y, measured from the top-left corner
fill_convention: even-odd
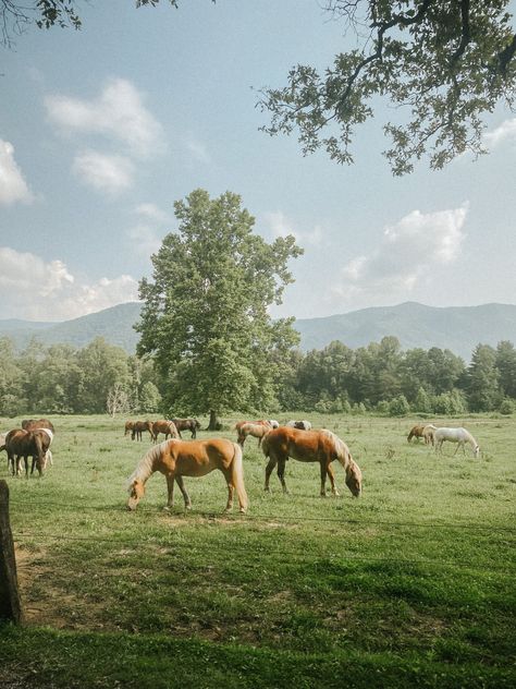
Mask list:
[[[346,440],[359,499],[339,466],[342,497],[320,498],[318,467],[294,460],[291,495],[275,474],[266,494],[248,438],[248,515],[222,515],[220,473],[185,481],[187,515],[179,492],[162,511],[156,474],[130,513],[150,440],[108,416],[53,419],[42,479],[2,460],[26,624],[0,627],[0,685],[514,687],[516,421],[446,420],[472,432],[476,460],[409,445],[415,419],[302,418]]]

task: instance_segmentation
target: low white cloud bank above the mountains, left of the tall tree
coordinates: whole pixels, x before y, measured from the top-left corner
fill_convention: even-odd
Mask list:
[[[62,261],[45,262],[30,253],[0,246],[2,317],[67,321],[137,300],[138,283],[128,275],[81,282]]]

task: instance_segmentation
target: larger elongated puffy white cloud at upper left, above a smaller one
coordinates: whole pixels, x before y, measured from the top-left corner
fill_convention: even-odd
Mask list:
[[[111,80],[93,100],[54,95],[48,96],[45,104],[50,120],[67,132],[103,134],[142,157],[163,148],[161,124],[147,110],[137,88],[126,80]]]

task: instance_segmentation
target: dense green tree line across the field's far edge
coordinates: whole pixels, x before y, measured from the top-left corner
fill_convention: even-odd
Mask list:
[[[509,341],[495,348],[478,344],[468,365],[447,349],[404,351],[392,336],[357,349],[334,341],[320,350],[291,349],[273,355],[274,382],[269,374],[263,377],[269,406],[260,408],[254,398],[237,399],[232,411],[445,415],[516,409],[516,349]],[[0,338],[2,416],[30,411],[163,415],[206,411],[195,408],[195,400],[185,403],[186,394],[174,403],[169,383],[152,358],[127,354],[102,338],[82,349],[44,346],[34,338],[20,352],[9,337]],[[230,410],[228,404],[224,411]]]

